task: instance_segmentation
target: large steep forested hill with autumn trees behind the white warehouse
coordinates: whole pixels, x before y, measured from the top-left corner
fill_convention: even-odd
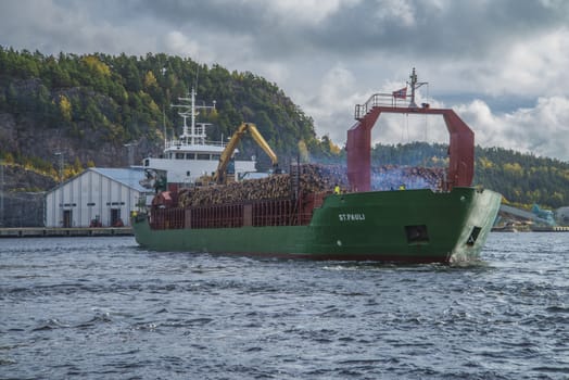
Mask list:
[[[53,172],[53,153],[63,151],[68,176],[88,165],[126,165],[124,144],[136,141],[139,162],[161,152],[164,123],[168,137],[181,132],[170,105],[192,87],[200,102],[216,101],[215,112],[200,116],[212,123],[212,140],[250,122],[284,160],[298,155],[299,141],[302,154],[338,152],[282,90],[252,73],[166,54],[52,56],[0,47],[0,159]],[[258,151],[248,140],[240,148]]]

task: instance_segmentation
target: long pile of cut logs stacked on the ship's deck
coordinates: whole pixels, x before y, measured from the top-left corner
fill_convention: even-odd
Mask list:
[[[342,165],[303,164],[292,174],[278,174],[262,179],[249,179],[227,185],[184,189],[178,194],[181,207],[235,204],[248,201],[290,199],[296,191],[307,193],[332,192],[339,186],[342,192],[350,188],[346,168]],[[372,169],[372,190],[442,188],[442,168],[396,167],[384,165]],[[298,185],[296,185],[298,183]],[[295,187],[298,186],[298,189]]]

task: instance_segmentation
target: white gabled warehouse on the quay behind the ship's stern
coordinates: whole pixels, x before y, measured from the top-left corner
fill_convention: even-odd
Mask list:
[[[148,189],[143,168],[91,167],[46,195],[46,227],[129,226],[130,212]]]

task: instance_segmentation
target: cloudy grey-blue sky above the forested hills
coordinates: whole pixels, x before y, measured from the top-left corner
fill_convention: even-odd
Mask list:
[[[454,109],[477,144],[569,162],[566,0],[2,0],[0,45],[251,72],[341,147],[355,105],[416,67],[417,102]],[[447,142],[432,117],[382,115],[374,142]]]

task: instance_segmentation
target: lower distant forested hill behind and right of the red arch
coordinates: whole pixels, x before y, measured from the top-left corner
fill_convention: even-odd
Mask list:
[[[374,165],[448,165],[446,144],[414,142],[378,144],[371,151]],[[502,148],[475,151],[473,185],[495,190],[506,202],[530,207],[533,203],[557,208],[569,205],[569,163]]]

